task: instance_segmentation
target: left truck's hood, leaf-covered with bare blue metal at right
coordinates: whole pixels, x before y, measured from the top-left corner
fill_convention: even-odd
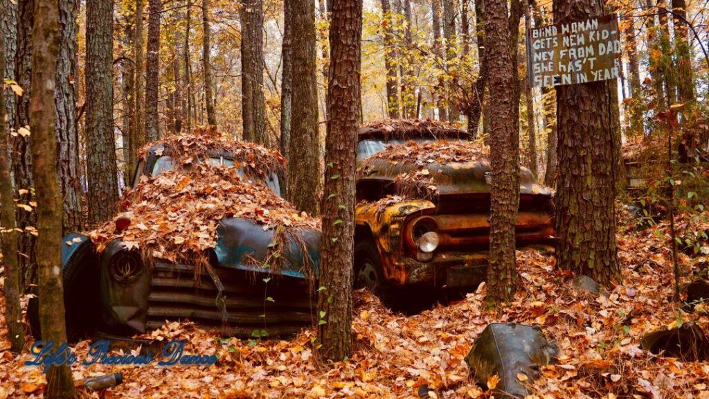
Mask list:
[[[128,217],[131,224],[117,232],[112,220],[91,231],[99,252],[109,241],[121,239],[126,248],[142,250],[145,258],[195,265],[205,259],[206,250],[216,248],[220,263],[268,265],[273,271],[299,270],[317,256],[318,220],[267,187],[245,181],[235,166],[195,163],[186,170],[143,176],[122,202],[127,210],[116,218]],[[301,260],[291,265],[296,254]]]

